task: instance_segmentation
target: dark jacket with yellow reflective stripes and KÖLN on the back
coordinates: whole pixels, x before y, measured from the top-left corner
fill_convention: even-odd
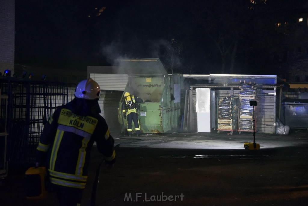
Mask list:
[[[45,125],[37,147],[37,161],[47,160],[51,183],[85,188],[94,141],[105,160],[112,161],[114,140],[102,116],[80,116],[68,108],[57,109]]]

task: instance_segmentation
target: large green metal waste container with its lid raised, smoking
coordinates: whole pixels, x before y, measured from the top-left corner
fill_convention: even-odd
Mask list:
[[[182,74],[167,74],[159,59],[119,59],[119,67],[129,74],[120,99],[118,119],[122,117],[125,92],[143,99],[140,103],[139,124],[142,133],[165,133],[179,126]],[[134,128],[134,124],[133,124]]]

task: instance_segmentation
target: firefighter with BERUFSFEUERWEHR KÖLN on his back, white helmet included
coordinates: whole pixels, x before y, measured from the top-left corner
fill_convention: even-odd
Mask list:
[[[79,82],[75,98],[59,107],[44,127],[36,166],[46,164],[59,205],[80,205],[96,141],[109,166],[115,162],[114,139],[99,115],[100,88],[91,78]]]

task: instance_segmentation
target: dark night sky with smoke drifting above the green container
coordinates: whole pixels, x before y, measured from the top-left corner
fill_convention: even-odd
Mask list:
[[[230,5],[213,2],[224,1],[15,0],[15,63],[86,70],[88,65],[114,65],[117,58],[160,58],[168,73],[171,63],[177,73],[219,73],[221,54],[206,31],[216,37],[219,31],[230,30],[230,21],[220,21],[228,19],[231,10]],[[241,7],[247,5],[231,2],[239,8],[231,14],[237,21],[245,15]],[[96,16],[102,7],[106,9]],[[236,23],[232,27],[241,28]],[[257,58],[263,58],[256,53],[264,51],[260,45],[254,50],[247,46],[255,36],[244,37],[234,73],[256,74],[247,68],[256,67]]]

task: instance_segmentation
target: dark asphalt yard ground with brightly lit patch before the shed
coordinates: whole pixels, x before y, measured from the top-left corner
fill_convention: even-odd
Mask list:
[[[253,142],[251,132],[112,135],[120,147],[115,166],[101,168],[96,205],[308,204],[307,130],[257,132],[260,150],[244,149]],[[101,160],[93,148],[82,205],[90,205]],[[0,205],[57,205],[52,192],[45,200],[27,200],[24,171],[10,173],[2,180]]]

